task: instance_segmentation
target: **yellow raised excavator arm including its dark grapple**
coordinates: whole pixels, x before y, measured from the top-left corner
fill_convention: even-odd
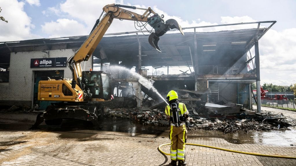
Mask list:
[[[122,7],[142,9],[145,10],[145,12],[143,14],[137,14],[123,9]],[[160,51],[160,48],[158,47],[159,37],[164,35],[168,30],[176,28],[182,33],[182,35],[184,35],[182,28],[178,25],[176,20],[168,19],[164,22],[163,15],[159,16],[150,7],[148,9],[143,9],[135,6],[110,4],[104,6],[102,14],[103,13],[105,13],[103,18],[96,21],[96,24],[94,25],[94,28],[88,38],[68,61],[68,66],[73,74],[72,88],[75,88],[77,82],[78,86],[83,89],[85,98],[88,96],[89,92],[85,91],[86,89],[83,87],[83,83],[81,81],[82,69],[80,62],[87,61],[90,58],[114,18],[120,20],[125,19],[137,22],[147,22],[155,30],[155,32],[152,32],[149,36],[149,43],[157,51]],[[153,15],[149,17],[151,14]]]

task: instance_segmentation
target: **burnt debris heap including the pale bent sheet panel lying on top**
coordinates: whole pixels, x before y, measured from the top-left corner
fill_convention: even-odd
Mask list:
[[[217,130],[226,134],[239,130],[246,132],[287,130],[289,126],[296,126],[295,119],[285,117],[282,113],[277,115],[269,112],[259,114],[238,104],[227,106],[196,102],[195,107],[192,107],[191,104],[188,105],[190,116],[187,127],[190,130]],[[168,117],[164,113],[165,103],[157,104],[151,108],[105,108],[104,115],[112,119],[128,118],[143,125],[170,125]]]

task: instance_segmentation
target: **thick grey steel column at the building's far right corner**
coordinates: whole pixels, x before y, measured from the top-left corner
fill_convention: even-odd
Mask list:
[[[258,35],[255,36],[255,65],[256,65],[256,90],[257,90],[257,112],[261,113],[261,89],[260,89],[260,59]]]

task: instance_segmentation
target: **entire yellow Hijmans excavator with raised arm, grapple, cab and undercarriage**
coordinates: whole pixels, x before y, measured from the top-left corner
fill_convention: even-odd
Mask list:
[[[123,8],[142,9],[145,12],[140,15]],[[96,20],[88,38],[68,60],[67,65],[72,71],[73,79],[49,79],[38,83],[38,100],[55,102],[49,105],[45,112],[38,114],[36,123],[31,129],[37,128],[43,121],[47,125],[59,125],[62,119],[69,118],[90,121],[98,125],[98,116],[102,115],[102,102],[111,98],[110,75],[104,71],[83,71],[80,63],[89,60],[114,18],[148,23],[154,29],[148,40],[157,51],[160,51],[159,37],[168,30],[176,28],[184,35],[176,20],[168,19],[164,22],[164,16],[158,15],[150,7],[143,9],[109,4],[104,6],[100,17]]]

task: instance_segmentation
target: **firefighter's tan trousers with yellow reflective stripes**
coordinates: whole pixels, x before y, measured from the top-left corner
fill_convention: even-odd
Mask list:
[[[170,159],[185,161],[185,140],[187,139],[187,130],[185,125],[170,126]]]

